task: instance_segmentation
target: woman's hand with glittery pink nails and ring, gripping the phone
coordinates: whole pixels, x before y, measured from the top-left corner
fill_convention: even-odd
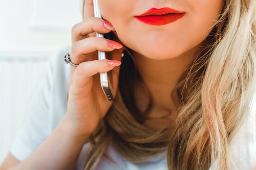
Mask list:
[[[120,43],[95,37],[95,32],[106,34],[114,28],[110,22],[90,16],[93,14],[90,11],[93,11],[92,3],[86,6],[88,15],[72,28],[70,58],[73,63],[79,65],[71,65],[70,68],[68,108],[65,116],[65,122],[68,123],[66,125],[71,127],[73,133],[82,136],[89,136],[96,129],[100,119],[113,104],[101,88],[99,72],[111,70],[108,75],[115,98],[122,54]],[[106,53],[106,56],[109,54],[111,61],[98,60],[97,50],[111,52]]]

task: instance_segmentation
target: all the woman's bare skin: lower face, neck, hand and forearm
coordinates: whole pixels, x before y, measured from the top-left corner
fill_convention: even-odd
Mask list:
[[[165,115],[166,110],[175,112],[174,101],[166,94],[172,92],[181,73],[194,61],[218,19],[222,1],[99,0],[99,5],[103,18],[112,23],[120,41],[133,50],[138,69],[153,95],[154,110],[150,116]],[[134,18],[152,7],[171,7],[186,14],[165,26],[145,25]],[[105,98],[98,72],[110,71],[115,96],[120,66],[97,60],[97,50],[110,52],[112,60],[120,61],[123,48],[116,49],[108,45],[108,40],[93,37],[95,32],[106,34],[110,30],[103,27],[102,19],[93,17],[92,0],[84,0],[84,11],[84,20],[72,28],[70,55],[79,65],[70,67],[67,114],[26,160],[19,162],[9,153],[1,170],[74,169],[84,143],[113,104]],[[139,98],[144,99],[138,92]],[[143,108],[144,103],[139,104]],[[159,129],[174,119],[172,114],[169,119],[149,121],[145,126]]]

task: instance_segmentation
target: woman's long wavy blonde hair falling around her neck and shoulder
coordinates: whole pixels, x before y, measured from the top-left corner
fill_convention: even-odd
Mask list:
[[[225,1],[207,44],[173,91],[180,100],[173,131],[142,126],[152,97],[127,48],[119,91],[90,136],[84,169],[96,167],[103,155],[111,159],[105,153],[110,143],[131,162],[166,152],[168,169],[208,169],[215,162],[215,168],[229,169],[228,143],[247,117],[255,90],[255,12],[255,1]],[[142,86],[151,99],[146,112],[134,103],[135,86]]]

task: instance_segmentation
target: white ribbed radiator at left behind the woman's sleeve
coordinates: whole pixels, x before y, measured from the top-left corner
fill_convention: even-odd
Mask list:
[[[0,163],[23,121],[26,102],[47,57],[0,56]]]

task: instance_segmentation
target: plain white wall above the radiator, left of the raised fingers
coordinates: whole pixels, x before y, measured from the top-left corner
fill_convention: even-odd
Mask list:
[[[63,17],[53,17],[56,22],[63,24],[67,20],[67,26],[65,28],[59,27],[54,29],[54,27],[49,28],[33,28],[31,27],[32,22],[32,12],[37,14],[37,9],[32,9],[34,2],[44,2],[42,0],[1,0],[0,1],[0,55],[3,53],[18,53],[18,52],[42,52],[51,53],[60,46],[65,46],[70,43],[71,35],[70,29],[72,27],[71,19],[65,18],[67,15],[71,18],[73,17],[74,23],[79,22],[81,19],[79,1],[78,0],[58,0],[62,2],[59,4],[58,10],[54,15],[60,15],[61,13],[66,13],[67,15],[62,15]],[[51,0],[57,1],[57,0]],[[45,1],[45,2],[49,2]],[[66,2],[66,3],[65,3]],[[68,3],[77,4],[70,9]],[[39,4],[40,5],[40,4]],[[56,4],[51,4],[52,7]],[[49,8],[51,9],[51,8]],[[45,15],[49,15],[49,9],[43,9]],[[76,13],[73,11],[76,10]],[[51,11],[53,12],[53,11]],[[44,15],[44,14],[42,14]],[[40,18],[42,20],[42,18]],[[58,20],[57,20],[58,19]]]

